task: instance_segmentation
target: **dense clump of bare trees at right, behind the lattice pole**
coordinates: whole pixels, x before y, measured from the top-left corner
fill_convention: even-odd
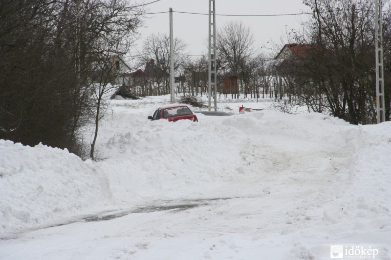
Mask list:
[[[293,76],[296,93],[310,110],[328,111],[352,124],[374,122],[373,2],[304,0],[304,4],[313,12],[312,23],[307,24],[304,34],[297,40],[312,47],[304,58],[291,60],[291,64],[285,66],[285,73]],[[389,39],[390,20],[384,21],[385,39]],[[387,50],[387,46],[390,45],[384,45],[384,49]],[[388,54],[384,55],[386,60]],[[386,84],[389,93],[391,85]],[[390,99],[386,102],[389,106]]]

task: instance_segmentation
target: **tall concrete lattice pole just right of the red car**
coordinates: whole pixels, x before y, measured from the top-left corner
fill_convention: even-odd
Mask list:
[[[217,111],[217,74],[216,74],[216,13],[215,0],[209,0],[209,71],[208,71],[208,111]],[[215,99],[212,107],[212,97]]]

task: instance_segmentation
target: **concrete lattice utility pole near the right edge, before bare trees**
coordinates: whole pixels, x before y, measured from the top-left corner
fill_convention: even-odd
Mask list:
[[[384,110],[382,0],[375,0],[375,16],[376,108],[377,123],[381,123],[386,121]]]

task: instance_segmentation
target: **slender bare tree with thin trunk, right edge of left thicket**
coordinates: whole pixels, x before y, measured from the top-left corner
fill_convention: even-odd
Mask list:
[[[91,7],[91,12],[87,12],[88,7]],[[122,58],[128,53],[131,44],[137,39],[136,30],[140,25],[140,10],[137,7],[128,6],[127,1],[119,0],[103,0],[97,5],[85,6],[84,10],[89,14],[89,19],[96,21],[94,27],[92,27],[93,25],[88,25],[92,27],[89,27],[92,29],[91,31],[95,32],[88,39],[90,46],[84,46],[85,41],[82,41],[80,47],[80,64],[84,65],[84,60],[91,59],[91,63],[95,67],[93,70],[88,69],[85,72],[95,74],[94,76],[98,79],[96,82],[88,85],[95,104],[90,107],[94,121],[90,158],[96,159],[95,144],[98,136],[99,121],[104,117],[108,109],[108,93],[113,88],[111,82],[113,82],[113,78],[118,76],[114,69],[116,67],[115,58]],[[89,36],[89,31],[83,30],[81,37],[86,38],[86,35]],[[95,50],[98,51],[94,51],[93,47],[96,47]]]

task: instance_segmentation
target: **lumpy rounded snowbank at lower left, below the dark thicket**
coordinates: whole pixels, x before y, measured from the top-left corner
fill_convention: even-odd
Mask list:
[[[67,150],[0,140],[0,154],[1,232],[50,223],[111,200],[107,176]]]

